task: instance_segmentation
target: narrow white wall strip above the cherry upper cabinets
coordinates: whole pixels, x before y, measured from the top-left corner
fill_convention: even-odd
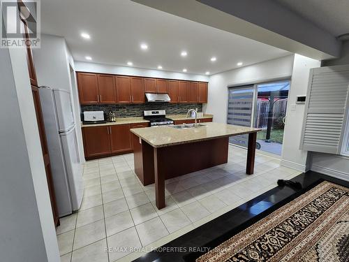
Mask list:
[[[113,66],[109,64],[87,63],[75,61],[75,71],[91,72],[91,73],[110,73],[115,75],[138,75],[149,78],[169,78],[180,80],[193,80],[207,82],[207,75],[194,75],[191,73],[177,73],[170,71],[137,68],[131,66]]]

